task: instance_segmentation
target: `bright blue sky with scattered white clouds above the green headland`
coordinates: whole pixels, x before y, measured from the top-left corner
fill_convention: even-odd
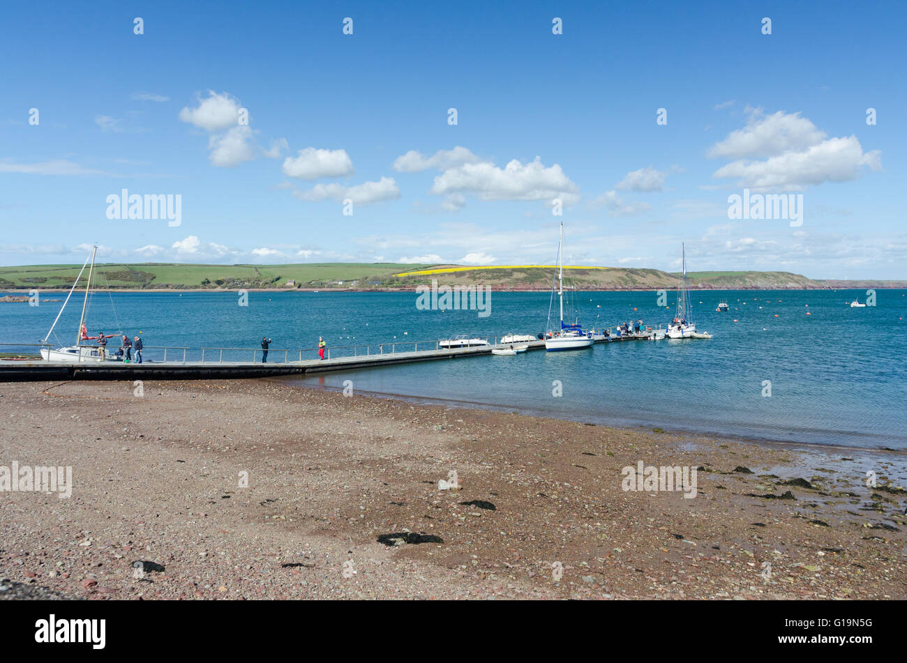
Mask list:
[[[6,5],[0,264],[81,263],[92,243],[137,263],[550,264],[562,220],[573,264],[675,270],[685,241],[693,270],[904,279],[905,17],[899,2]],[[108,218],[123,188],[179,195],[180,225]],[[802,194],[802,225],[729,219],[744,188]]]

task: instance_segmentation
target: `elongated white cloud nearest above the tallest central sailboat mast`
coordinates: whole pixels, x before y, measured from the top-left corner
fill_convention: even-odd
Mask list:
[[[431,193],[444,196],[455,192],[473,193],[483,200],[560,197],[568,205],[580,199],[579,187],[564,175],[561,166],[545,168],[538,157],[527,164],[513,159],[504,168],[490,162],[463,164],[434,178]]]

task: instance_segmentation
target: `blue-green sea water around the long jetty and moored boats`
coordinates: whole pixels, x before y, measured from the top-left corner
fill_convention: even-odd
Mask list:
[[[349,380],[354,394],[611,426],[907,449],[907,292],[878,290],[875,306],[851,308],[856,297],[864,302],[866,291],[695,291],[693,317],[710,340],[600,343],[582,351],[424,361],[286,380],[329,389],[342,389]],[[575,293],[573,299],[580,322],[598,328],[640,318],[664,325],[675,302],[668,293],[667,305],[659,306],[651,291]],[[419,310],[412,292],[252,292],[245,306],[235,292],[93,293],[86,318],[92,334],[141,335],[145,360],[161,359],[154,346],[188,347],[190,359],[200,357],[201,347],[238,348],[244,350],[228,351],[224,359],[250,360],[264,335],[272,339],[269,360],[282,360],[283,350],[292,360],[299,349],[315,348],[319,336],[335,357],[354,352],[343,346],[367,344],[376,352],[384,343],[386,352],[390,343],[545,330],[549,293],[495,292],[492,301],[491,315],[481,317],[476,311]],[[730,311],[716,311],[722,301]],[[0,304],[0,342],[41,341],[59,307]],[[75,341],[81,307],[82,295],[74,293],[51,341]],[[557,315],[556,301],[553,311]],[[316,356],[303,353],[304,359]],[[181,351],[168,351],[168,359],[174,357],[180,359]],[[206,353],[206,359],[217,358]]]

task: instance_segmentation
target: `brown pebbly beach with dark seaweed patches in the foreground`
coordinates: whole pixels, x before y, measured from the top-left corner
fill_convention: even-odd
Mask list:
[[[68,499],[0,493],[0,598],[907,598],[902,453],[279,380],[134,389],[0,384],[0,466],[73,468]],[[640,461],[701,468],[696,497],[623,490]]]

